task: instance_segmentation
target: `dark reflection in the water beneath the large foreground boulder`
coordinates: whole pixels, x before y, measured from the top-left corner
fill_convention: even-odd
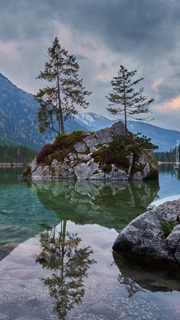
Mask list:
[[[132,257],[113,252],[114,262],[119,268],[118,281],[126,285],[129,297],[138,291],[180,291],[180,268],[153,265],[151,261],[134,260]],[[151,265],[152,264],[152,265]]]

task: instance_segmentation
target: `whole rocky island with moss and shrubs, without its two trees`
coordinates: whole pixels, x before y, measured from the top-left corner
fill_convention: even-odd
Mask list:
[[[158,178],[157,166],[145,147],[145,142],[147,145],[150,140],[141,139],[132,132],[125,133],[122,121],[95,132],[60,134],[53,144],[42,148],[21,177],[77,180]]]

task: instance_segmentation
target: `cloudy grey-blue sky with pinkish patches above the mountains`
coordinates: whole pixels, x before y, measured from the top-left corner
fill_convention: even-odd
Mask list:
[[[0,73],[36,93],[56,36],[93,92],[86,112],[114,119],[105,96],[123,65],[155,99],[151,124],[180,131],[179,0],[0,0]]]

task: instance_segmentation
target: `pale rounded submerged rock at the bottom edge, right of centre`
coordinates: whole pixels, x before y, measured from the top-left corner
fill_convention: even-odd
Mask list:
[[[107,317],[111,317],[114,319],[117,319],[118,317],[122,317],[123,314],[122,312],[120,312],[118,309],[109,306],[106,303],[102,303],[102,302],[98,302],[95,303],[93,306],[91,306],[90,308],[87,309],[88,313],[92,313],[93,315],[96,316],[107,316]]]

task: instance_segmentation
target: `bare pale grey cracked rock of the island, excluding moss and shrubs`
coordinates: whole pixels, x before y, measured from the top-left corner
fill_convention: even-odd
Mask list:
[[[30,164],[31,172],[29,177],[35,179],[78,179],[78,180],[143,180],[158,178],[158,170],[154,163],[151,163],[146,153],[142,151],[138,160],[134,160],[133,153],[126,158],[126,168],[123,165],[111,164],[110,170],[104,170],[100,162],[95,159],[94,154],[104,146],[108,146],[117,135],[125,133],[125,125],[119,121],[111,126],[94,132],[83,132],[85,138],[83,142],[74,145],[74,152],[70,152],[64,157],[63,161],[52,160],[51,166],[37,164],[34,159]],[[133,161],[136,171],[133,170]]]

